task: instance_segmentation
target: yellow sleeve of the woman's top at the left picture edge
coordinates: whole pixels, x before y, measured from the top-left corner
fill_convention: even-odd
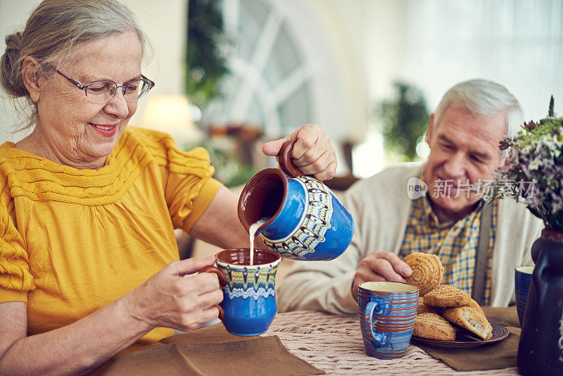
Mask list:
[[[15,227],[14,202],[6,177],[0,176],[0,303],[27,301],[34,289],[25,242]]]

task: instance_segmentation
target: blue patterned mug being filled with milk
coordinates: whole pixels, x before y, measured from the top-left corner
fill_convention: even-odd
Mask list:
[[[215,255],[217,267],[205,266],[200,272],[215,272],[220,277],[223,301],[219,318],[227,332],[254,336],[268,330],[277,312],[276,272],[281,257],[265,249],[255,249],[250,265],[250,249],[227,249]]]

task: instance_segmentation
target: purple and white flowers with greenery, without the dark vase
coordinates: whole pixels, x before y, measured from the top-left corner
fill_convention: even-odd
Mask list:
[[[521,200],[547,230],[563,232],[563,118],[553,112],[553,96],[548,117],[523,128],[500,142],[508,155],[487,198]]]

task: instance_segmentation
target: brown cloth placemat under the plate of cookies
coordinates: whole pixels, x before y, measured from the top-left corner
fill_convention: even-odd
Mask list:
[[[518,317],[514,322],[516,308],[483,307],[488,320],[505,325],[510,332],[507,338],[495,344],[473,347],[470,349],[442,349],[415,343],[426,351],[429,356],[436,358],[457,371],[498,370],[517,366],[518,342],[520,328],[510,326],[518,324]],[[514,311],[514,313],[512,313]]]

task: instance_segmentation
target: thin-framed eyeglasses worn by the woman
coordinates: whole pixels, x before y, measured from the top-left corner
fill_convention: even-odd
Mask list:
[[[98,80],[90,82],[89,84],[79,84],[72,78],[64,75],[60,70],[56,72],[65,77],[71,84],[74,84],[78,89],[84,90],[87,99],[93,103],[104,103],[113,98],[120,87],[123,88],[123,96],[127,101],[138,101],[141,96],[148,93],[148,90],[154,87],[154,82],[148,80],[144,75],[141,75],[140,80],[134,80],[124,85],[118,85],[111,80]]]

